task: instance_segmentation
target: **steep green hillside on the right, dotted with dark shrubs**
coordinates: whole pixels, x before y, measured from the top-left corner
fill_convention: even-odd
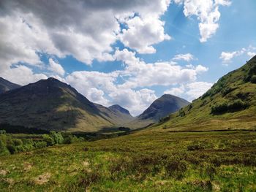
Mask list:
[[[220,78],[203,96],[165,119],[173,130],[256,128],[256,56]]]

